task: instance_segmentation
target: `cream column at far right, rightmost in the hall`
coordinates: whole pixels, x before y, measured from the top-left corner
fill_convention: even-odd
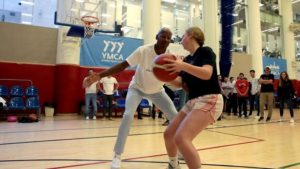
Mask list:
[[[287,72],[291,79],[296,78],[296,69],[293,67],[295,61],[295,39],[294,32],[290,31],[289,26],[293,23],[293,9],[291,0],[280,1],[280,12],[282,15],[282,34],[283,35],[283,56],[287,62]]]

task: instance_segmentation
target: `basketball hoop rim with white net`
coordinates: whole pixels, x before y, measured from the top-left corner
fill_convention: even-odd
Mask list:
[[[84,38],[91,38],[94,36],[96,24],[99,19],[95,16],[83,16],[81,21],[84,23]]]

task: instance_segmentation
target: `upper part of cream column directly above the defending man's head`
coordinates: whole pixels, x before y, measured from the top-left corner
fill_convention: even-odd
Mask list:
[[[142,30],[144,44],[154,43],[161,28],[161,0],[143,0]]]

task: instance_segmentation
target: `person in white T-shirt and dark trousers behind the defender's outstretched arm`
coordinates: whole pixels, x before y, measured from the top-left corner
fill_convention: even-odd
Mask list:
[[[108,111],[108,119],[112,120],[111,114],[112,114],[112,102],[113,102],[113,96],[114,92],[118,90],[119,83],[117,82],[116,78],[112,76],[106,76],[100,79],[100,83],[103,84],[103,89],[100,85],[100,90],[103,92],[103,117],[105,117],[106,112]],[[108,102],[108,106],[107,106]]]

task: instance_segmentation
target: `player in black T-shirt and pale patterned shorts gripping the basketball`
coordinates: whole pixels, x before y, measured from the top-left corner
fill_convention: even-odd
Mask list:
[[[186,30],[181,41],[190,52],[187,62],[177,59],[166,64],[168,71],[180,72],[180,77],[171,84],[188,92],[189,100],[171,121],[164,133],[169,156],[169,169],[178,169],[178,150],[188,168],[201,168],[199,154],[193,139],[222,113],[223,98],[217,77],[216,55],[209,47],[203,47],[204,34],[198,27]]]

